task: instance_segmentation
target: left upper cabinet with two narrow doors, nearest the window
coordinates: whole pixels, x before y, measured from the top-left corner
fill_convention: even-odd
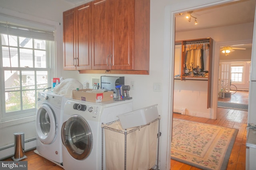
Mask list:
[[[63,12],[64,70],[91,69],[91,3]]]

